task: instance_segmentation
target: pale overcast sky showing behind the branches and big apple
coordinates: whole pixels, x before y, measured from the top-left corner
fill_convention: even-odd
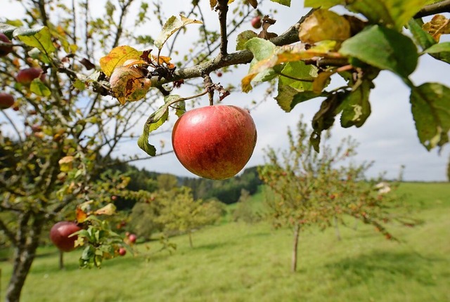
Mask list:
[[[163,3],[172,3],[173,0],[163,1]],[[238,1],[236,1],[238,2]],[[285,8],[283,6],[271,4],[265,1],[266,4],[262,6],[262,11],[265,13],[270,7],[278,9],[276,25],[271,27],[271,31],[281,34],[289,25],[292,25],[301,15],[307,12],[302,7],[302,1],[294,0],[292,8]],[[93,5],[102,6],[104,1],[95,2]],[[166,17],[177,14],[182,10],[182,6],[186,7],[191,1],[176,1],[176,6],[164,6],[167,9]],[[200,4],[208,6],[209,1],[201,0]],[[6,11],[0,11],[0,18],[13,18],[14,12],[16,18],[20,16],[21,8],[16,1],[11,4]],[[95,12],[103,12],[101,8],[94,9]],[[217,15],[211,12],[209,8],[204,11],[208,20],[207,25],[213,26],[217,23]],[[278,18],[277,18],[278,17]],[[281,18],[282,17],[282,18]],[[128,20],[130,22],[130,20]],[[131,20],[132,21],[132,20]],[[191,37],[198,34],[195,28],[198,25],[190,25],[183,37],[177,42],[179,51],[183,51],[186,45],[189,45]],[[146,26],[146,28],[160,28],[158,24]],[[252,29],[249,25],[242,28]],[[233,41],[235,37],[231,37]],[[233,43],[231,42],[231,47]],[[230,51],[233,51],[231,48]],[[162,53],[164,55],[164,53]],[[214,78],[213,81],[220,81],[221,84],[232,83],[235,86],[240,85],[240,79],[248,72],[248,65],[239,67],[233,70],[233,74],[225,74],[224,77]],[[425,82],[439,82],[450,86],[450,65],[442,63],[424,55],[420,59],[419,66],[411,75],[411,79],[417,86]],[[335,80],[334,80],[335,81]],[[233,93],[231,96],[224,99],[223,103],[226,105],[240,105],[241,107],[251,107],[251,100],[258,100],[262,98],[264,87],[256,88],[250,93]],[[176,93],[186,93],[189,95],[187,89],[177,91]],[[274,95],[276,96],[276,95]],[[333,140],[338,142],[340,138],[345,136],[352,136],[359,143],[357,156],[358,161],[375,161],[373,168],[368,171],[368,176],[378,176],[382,171],[387,172],[388,177],[395,177],[399,173],[401,165],[405,166],[404,179],[405,180],[446,180],[446,163],[449,159],[449,147],[444,147],[442,154],[438,155],[437,150],[428,152],[425,147],[420,145],[417,138],[415,125],[411,114],[411,105],[409,103],[409,88],[407,88],[401,80],[399,80],[391,72],[381,72],[377,79],[375,79],[375,89],[371,92],[371,106],[372,114],[359,129],[355,127],[349,129],[340,128],[337,119],[332,130]],[[255,120],[258,131],[258,141],[255,152],[248,162],[247,167],[255,166],[257,164],[264,164],[263,149],[267,146],[275,149],[283,149],[287,147],[288,140],[285,133],[288,126],[295,128],[295,124],[300,117],[304,115],[304,121],[310,122],[315,112],[319,109],[321,100],[310,100],[300,105],[297,105],[290,113],[281,110],[276,104],[275,100],[268,100],[255,110],[252,110],[252,117]],[[205,105],[207,100],[205,99]],[[142,129],[144,121],[136,123],[138,129]],[[171,122],[173,124],[174,117]],[[138,130],[140,131],[140,130]],[[165,150],[171,149],[170,133],[161,134],[152,138],[153,143],[158,145],[160,140],[166,141]],[[124,144],[118,150],[117,155],[130,154],[136,152],[143,155],[136,142]],[[136,166],[145,167],[149,171],[158,171],[162,173],[174,173],[179,176],[191,176],[192,173],[184,169],[178,162],[175,155],[169,154],[162,157],[156,157],[140,162],[135,162]]]

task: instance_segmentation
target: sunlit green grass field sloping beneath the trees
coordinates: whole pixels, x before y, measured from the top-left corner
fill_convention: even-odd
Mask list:
[[[139,254],[80,270],[79,252],[58,270],[53,247],[39,249],[22,301],[450,301],[450,184],[404,183],[407,202],[425,220],[416,228],[390,225],[403,242],[373,228],[304,230],[297,273],[290,272],[292,232],[269,223],[221,223],[188,237],[172,238],[174,254],[153,254],[158,242],[139,244]],[[252,198],[261,206],[261,192]],[[352,223],[352,227],[353,227]],[[11,263],[1,262],[1,299]]]

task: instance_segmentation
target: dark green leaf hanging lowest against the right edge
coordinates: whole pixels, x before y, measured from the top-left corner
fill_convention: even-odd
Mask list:
[[[431,150],[449,142],[450,88],[425,83],[411,90],[411,112],[420,143]]]

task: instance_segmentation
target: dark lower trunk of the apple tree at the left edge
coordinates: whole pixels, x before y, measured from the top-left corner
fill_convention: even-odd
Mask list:
[[[30,217],[26,214],[24,216]],[[25,219],[29,220],[29,218]],[[23,222],[21,221],[21,223]],[[34,216],[30,228],[27,228],[27,230],[18,229],[18,244],[14,249],[13,275],[6,289],[6,302],[18,302],[20,300],[23,285],[36,256],[43,225],[44,219]]]

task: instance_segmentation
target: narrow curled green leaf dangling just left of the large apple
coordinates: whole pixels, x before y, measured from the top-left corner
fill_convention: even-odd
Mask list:
[[[148,137],[150,132],[160,128],[162,124],[167,121],[169,117],[169,106],[174,103],[180,103],[181,97],[176,95],[166,96],[164,98],[165,104],[158,108],[153,114],[148,117],[146,124],[143,126],[143,133],[138,139],[139,147],[144,150],[148,155],[155,156],[156,148],[154,145],[148,143]]]

